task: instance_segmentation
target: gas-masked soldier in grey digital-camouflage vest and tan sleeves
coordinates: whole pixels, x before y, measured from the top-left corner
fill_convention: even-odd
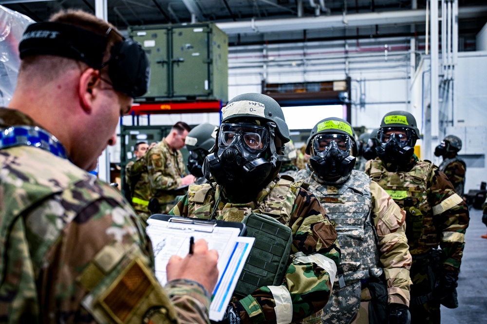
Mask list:
[[[319,121],[306,153],[311,155],[309,164],[296,179],[310,183],[309,190],[335,222],[342,251],[321,323],[407,324],[412,259],[405,212],[364,172],[354,169],[357,144],[347,121]]]

